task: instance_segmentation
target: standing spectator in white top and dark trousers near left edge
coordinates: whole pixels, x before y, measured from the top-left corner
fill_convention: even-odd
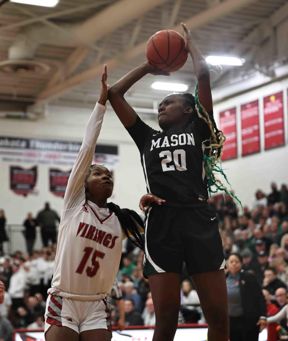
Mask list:
[[[12,299],[12,309],[16,310],[20,306],[24,306],[24,291],[27,281],[27,273],[23,266],[18,262],[14,262],[12,266],[13,275],[10,279],[9,294]]]

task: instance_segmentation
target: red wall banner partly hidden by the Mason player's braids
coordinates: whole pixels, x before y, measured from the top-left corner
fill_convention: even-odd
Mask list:
[[[222,161],[237,158],[236,107],[219,113],[219,127],[226,136]]]

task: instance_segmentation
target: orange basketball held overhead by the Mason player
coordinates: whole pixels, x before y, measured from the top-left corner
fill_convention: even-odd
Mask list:
[[[146,57],[148,62],[159,70],[179,70],[188,58],[183,36],[172,30],[156,32],[148,40]]]

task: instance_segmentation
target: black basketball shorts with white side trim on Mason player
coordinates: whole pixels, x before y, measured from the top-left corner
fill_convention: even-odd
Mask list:
[[[174,208],[152,204],[145,211],[143,275],[189,275],[224,269],[222,240],[215,212],[208,206]]]

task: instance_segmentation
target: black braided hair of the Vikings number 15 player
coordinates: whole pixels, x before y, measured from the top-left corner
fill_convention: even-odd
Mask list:
[[[89,175],[91,174],[92,169],[96,166],[100,166],[100,165],[93,164],[90,166],[88,174],[86,175],[86,178],[84,181],[85,183],[87,182],[87,179],[89,178]],[[85,191],[86,191],[86,187],[85,187]],[[139,214],[133,210],[130,210],[129,208],[120,208],[118,205],[114,203],[107,203],[107,207],[109,208],[110,211],[116,214],[127,238],[129,238],[134,245],[138,246],[141,250],[144,251],[144,240],[136,225],[136,223],[138,223],[144,229],[144,222],[139,217]],[[135,240],[129,236],[129,232],[135,238]]]

